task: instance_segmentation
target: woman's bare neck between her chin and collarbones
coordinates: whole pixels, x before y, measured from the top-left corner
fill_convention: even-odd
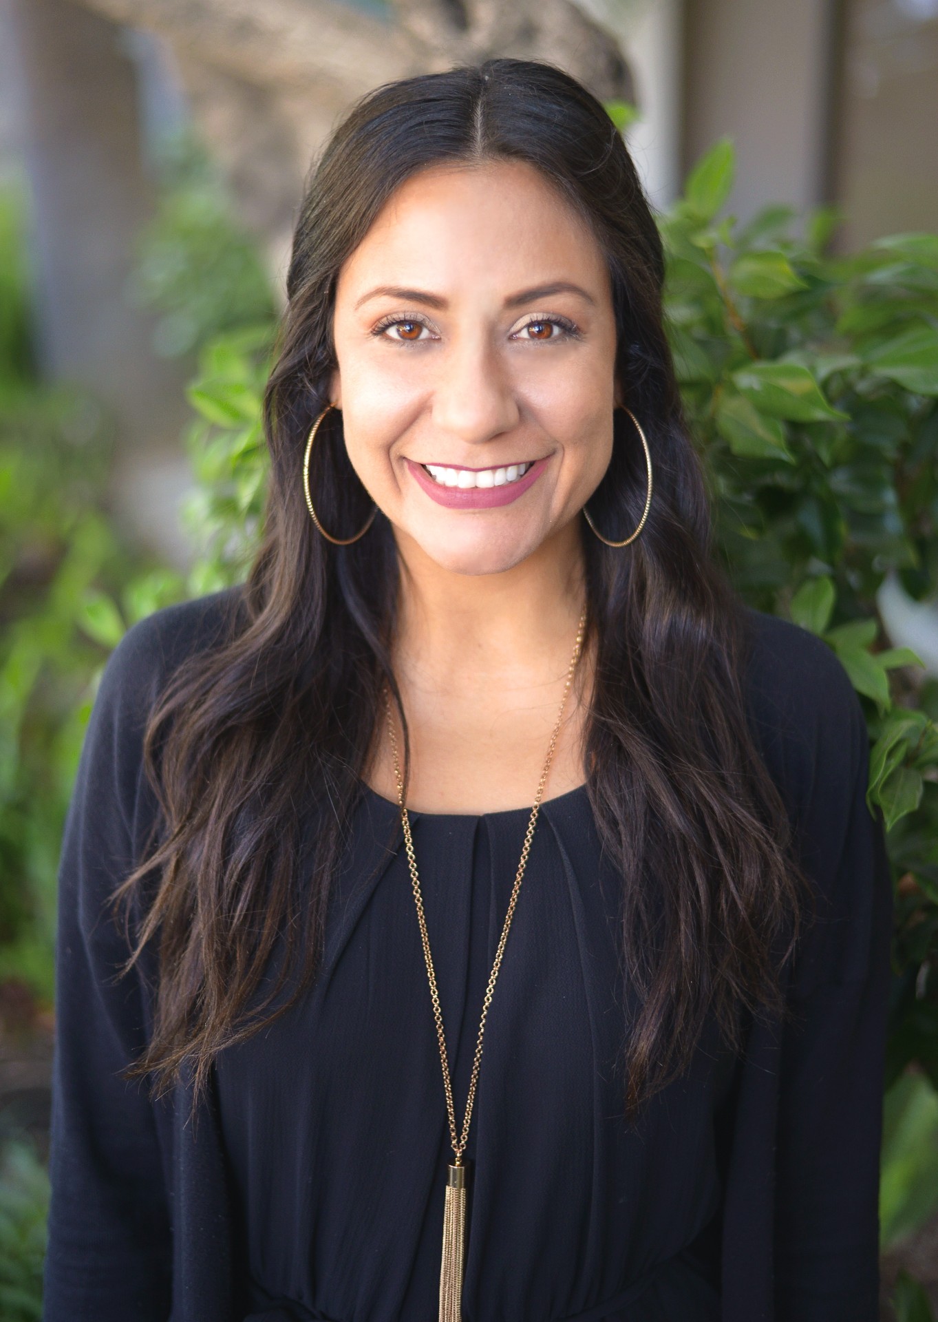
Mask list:
[[[403,534],[395,669],[420,687],[485,690],[556,677],[585,602],[583,543],[572,520],[501,574],[441,568]]]

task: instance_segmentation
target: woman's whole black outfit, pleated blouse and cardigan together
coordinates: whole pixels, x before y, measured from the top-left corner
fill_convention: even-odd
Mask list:
[[[196,1121],[116,1077],[152,1018],[152,968],[104,914],[155,813],[140,735],[234,592],[157,612],[104,673],[61,866],[48,1322],[431,1322],[443,1076],[396,805],[365,789],[312,992],[222,1054]],[[873,1322],[892,888],[865,805],[867,734],[836,658],[749,612],[753,728],[820,916],[793,1021],[733,1058],[709,1025],[634,1128],[622,880],[585,788],[548,800],[489,1013],[466,1322]],[[485,984],[528,810],[412,813],[461,1121]]]

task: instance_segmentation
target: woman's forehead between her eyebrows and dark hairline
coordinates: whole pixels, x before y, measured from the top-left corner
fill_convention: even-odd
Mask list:
[[[433,165],[388,198],[345,262],[337,297],[365,284],[439,292],[522,288],[547,280],[608,286],[600,245],[559,189],[524,161]]]

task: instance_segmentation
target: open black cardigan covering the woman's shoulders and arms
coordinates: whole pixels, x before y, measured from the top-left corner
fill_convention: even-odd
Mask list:
[[[180,661],[219,637],[235,596],[135,625],[106,666],[85,739],[59,869],[46,1322],[240,1322],[247,1311],[217,1089],[192,1124],[185,1083],[153,1104],[118,1077],[151,1029],[152,964],[114,978],[127,948],[107,912],[156,812],[141,768],[147,713]],[[794,1021],[750,1026],[715,1136],[721,1317],[875,1322],[892,886],[881,817],[864,797],[865,722],[823,642],[760,612],[749,620],[753,730],[820,917],[786,974]]]

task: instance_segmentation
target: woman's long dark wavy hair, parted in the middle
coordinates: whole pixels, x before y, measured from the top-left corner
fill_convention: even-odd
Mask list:
[[[612,276],[620,383],[654,457],[638,541],[613,550],[584,539],[596,648],[585,775],[622,876],[624,956],[641,1003],[624,1034],[629,1110],[682,1071],[708,1014],[739,1047],[745,1010],[783,1013],[779,969],[798,935],[803,878],[748,724],[744,612],[711,558],[704,481],[662,324],[658,229],[600,102],[550,65],[490,59],[363,98],[303,201],[266,395],[263,543],[226,639],[188,658],[151,715],[144,754],[162,828],[119,892],[135,900],[129,962],[149,943],[157,952],[153,1031],[135,1067],[157,1091],[182,1067],[203,1083],[222,1048],[283,1013],[314,978],[382,686],[399,697],[391,526],[379,514],[359,542],[332,546],[300,481],[336,365],[337,274],[416,171],[505,159],[540,171],[597,235]],[[591,513],[621,538],[643,508],[645,465],[626,415],[616,416],[626,431],[616,435]],[[317,512],[350,537],[370,502],[341,432],[324,424],[320,438]],[[304,867],[309,814],[316,830]],[[145,878],[156,883],[144,887]]]

